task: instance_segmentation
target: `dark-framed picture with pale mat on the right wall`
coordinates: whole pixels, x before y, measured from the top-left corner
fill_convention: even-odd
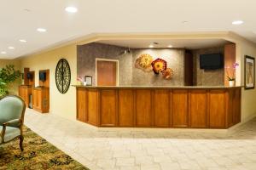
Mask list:
[[[255,86],[255,59],[245,56],[244,59],[244,88],[253,89]]]

